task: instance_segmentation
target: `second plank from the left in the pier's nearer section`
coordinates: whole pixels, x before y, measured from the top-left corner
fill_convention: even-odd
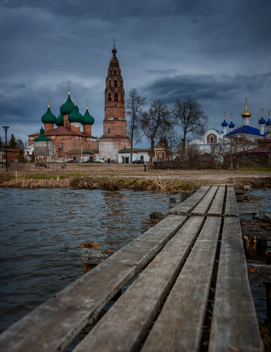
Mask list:
[[[188,219],[74,352],[127,352],[138,349],[203,221],[203,217],[196,216]]]

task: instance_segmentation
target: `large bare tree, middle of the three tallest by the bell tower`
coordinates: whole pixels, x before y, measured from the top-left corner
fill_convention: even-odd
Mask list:
[[[172,124],[171,113],[168,106],[160,99],[156,99],[149,109],[145,111],[140,118],[141,128],[147,138],[151,141],[151,152],[149,165],[152,164],[152,157],[154,151],[154,142],[159,136],[159,131]]]

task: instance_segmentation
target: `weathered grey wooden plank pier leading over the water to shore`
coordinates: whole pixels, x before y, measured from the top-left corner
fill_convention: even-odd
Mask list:
[[[234,187],[202,186],[170,208],[119,251],[99,251],[99,265],[6,329],[0,350],[64,351],[90,324],[73,352],[199,351],[216,279],[208,351],[263,351]],[[83,245],[85,263],[92,247]]]

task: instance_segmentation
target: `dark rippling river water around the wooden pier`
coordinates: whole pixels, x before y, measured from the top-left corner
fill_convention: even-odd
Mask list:
[[[270,213],[271,190],[253,194],[266,196],[261,212]],[[141,234],[150,211],[169,206],[168,194],[139,191],[0,189],[0,197],[0,331],[82,275],[82,242],[120,249]],[[261,325],[269,321],[265,287],[251,289]]]

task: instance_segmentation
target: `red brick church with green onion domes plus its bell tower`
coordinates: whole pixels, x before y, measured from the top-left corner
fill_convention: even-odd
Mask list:
[[[48,110],[42,116],[44,136],[55,142],[56,159],[69,158],[74,155],[79,158],[82,154],[95,158],[99,153],[100,157],[118,162],[119,150],[130,148],[130,138],[126,135],[123,80],[119,61],[116,58],[115,45],[112,52],[113,56],[106,78],[105,119],[103,120],[103,136],[99,138],[99,151],[97,150],[97,138],[91,134],[94,118],[89,114],[88,106],[84,115],[79,113],[78,106],[70,98],[69,87],[68,99],[61,105],[59,116],[56,118],[52,114],[49,102]],[[83,132],[81,132],[81,125],[83,125]],[[29,146],[37,136],[39,133],[28,136]]]

